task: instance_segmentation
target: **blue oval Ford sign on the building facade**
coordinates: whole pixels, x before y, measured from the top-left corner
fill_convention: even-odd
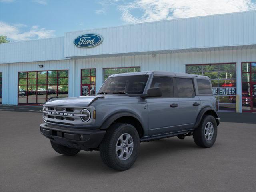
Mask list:
[[[98,34],[84,34],[74,40],[74,44],[77,47],[90,48],[97,46],[103,41],[102,36]]]

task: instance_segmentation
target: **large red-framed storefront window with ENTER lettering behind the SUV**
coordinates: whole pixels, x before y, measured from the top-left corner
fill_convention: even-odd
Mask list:
[[[244,68],[245,67],[246,66],[244,66]],[[212,82],[212,88],[217,100],[218,110],[235,110],[235,63],[186,65],[186,73],[208,76]]]

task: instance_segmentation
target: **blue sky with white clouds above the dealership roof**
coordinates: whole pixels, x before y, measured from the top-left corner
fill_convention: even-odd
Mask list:
[[[11,42],[65,32],[256,10],[256,0],[0,0],[0,35]]]

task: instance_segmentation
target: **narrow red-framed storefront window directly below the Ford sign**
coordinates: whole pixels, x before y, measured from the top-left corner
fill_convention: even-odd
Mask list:
[[[92,95],[96,92],[96,69],[81,70],[81,96]]]

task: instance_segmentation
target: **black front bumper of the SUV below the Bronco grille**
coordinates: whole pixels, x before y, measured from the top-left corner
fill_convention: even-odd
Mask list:
[[[40,132],[48,139],[70,148],[89,151],[98,148],[106,130],[84,130],[40,124]]]

